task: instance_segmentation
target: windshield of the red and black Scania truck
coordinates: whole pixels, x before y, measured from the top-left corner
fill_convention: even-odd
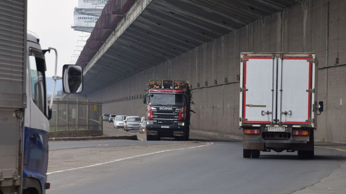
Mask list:
[[[151,93],[149,95],[149,104],[158,106],[182,106],[184,105],[184,94]]]

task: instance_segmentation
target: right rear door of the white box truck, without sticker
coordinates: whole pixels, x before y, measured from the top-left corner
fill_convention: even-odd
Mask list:
[[[280,114],[283,124],[309,125],[312,121],[313,57],[286,54],[279,59],[281,79],[278,80]],[[279,76],[280,78],[280,76]]]

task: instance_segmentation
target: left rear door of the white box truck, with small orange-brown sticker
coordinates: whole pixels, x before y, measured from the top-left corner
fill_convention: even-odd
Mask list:
[[[273,121],[274,59],[269,56],[242,56],[240,122],[271,123]]]

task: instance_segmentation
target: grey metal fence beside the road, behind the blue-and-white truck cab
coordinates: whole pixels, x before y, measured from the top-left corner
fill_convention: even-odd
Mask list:
[[[52,96],[48,95],[48,102]],[[54,95],[50,131],[102,130],[102,103],[80,96]]]

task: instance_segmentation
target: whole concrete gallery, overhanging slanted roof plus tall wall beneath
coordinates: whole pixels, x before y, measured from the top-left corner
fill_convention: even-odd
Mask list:
[[[145,115],[150,79],[192,84],[192,129],[239,134],[240,52],[315,52],[317,141],[346,143],[346,1],[109,0],[77,61],[103,111]]]

